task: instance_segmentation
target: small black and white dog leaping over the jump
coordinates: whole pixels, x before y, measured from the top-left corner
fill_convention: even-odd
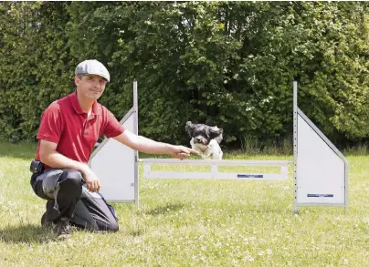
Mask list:
[[[222,159],[223,151],[219,144],[223,139],[223,128],[187,121],[185,130],[191,138],[192,149],[198,151],[203,159],[210,159],[211,156],[213,159]]]

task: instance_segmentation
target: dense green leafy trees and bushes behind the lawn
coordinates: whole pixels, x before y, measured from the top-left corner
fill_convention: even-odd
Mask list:
[[[111,72],[100,103],[122,118],[139,84],[140,134],[187,144],[185,122],[227,148],[279,144],[299,106],[338,147],[368,141],[365,2],[1,2],[0,138],[35,140],[74,68]]]

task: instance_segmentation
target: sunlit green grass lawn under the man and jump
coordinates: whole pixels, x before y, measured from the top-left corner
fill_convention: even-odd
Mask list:
[[[0,144],[0,266],[369,266],[368,156],[347,157],[347,213],[294,215],[292,169],[288,180],[269,182],[140,177],[140,208],[114,204],[119,232],[75,231],[58,241],[41,228],[45,201],[29,185],[35,151]]]

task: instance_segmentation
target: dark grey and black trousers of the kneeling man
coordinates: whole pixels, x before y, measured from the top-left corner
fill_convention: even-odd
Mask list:
[[[118,219],[102,195],[83,186],[77,169],[46,169],[33,174],[32,189],[47,200],[47,221],[68,218],[72,225],[88,230],[118,231]]]

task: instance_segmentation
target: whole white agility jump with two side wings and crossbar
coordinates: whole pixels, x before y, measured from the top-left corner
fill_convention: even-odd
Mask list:
[[[297,82],[293,82],[293,161],[216,159],[139,159],[138,153],[115,139],[105,139],[92,153],[90,168],[103,184],[106,200],[139,205],[138,164],[143,178],[286,180],[293,164],[294,212],[300,206],[340,206],[348,210],[348,163],[343,154],[298,108]],[[133,82],[133,107],[121,119],[124,128],[138,134],[137,81]],[[155,171],[153,165],[202,165],[207,172]],[[279,167],[279,173],[219,172],[221,166]],[[175,168],[174,168],[175,169]]]

